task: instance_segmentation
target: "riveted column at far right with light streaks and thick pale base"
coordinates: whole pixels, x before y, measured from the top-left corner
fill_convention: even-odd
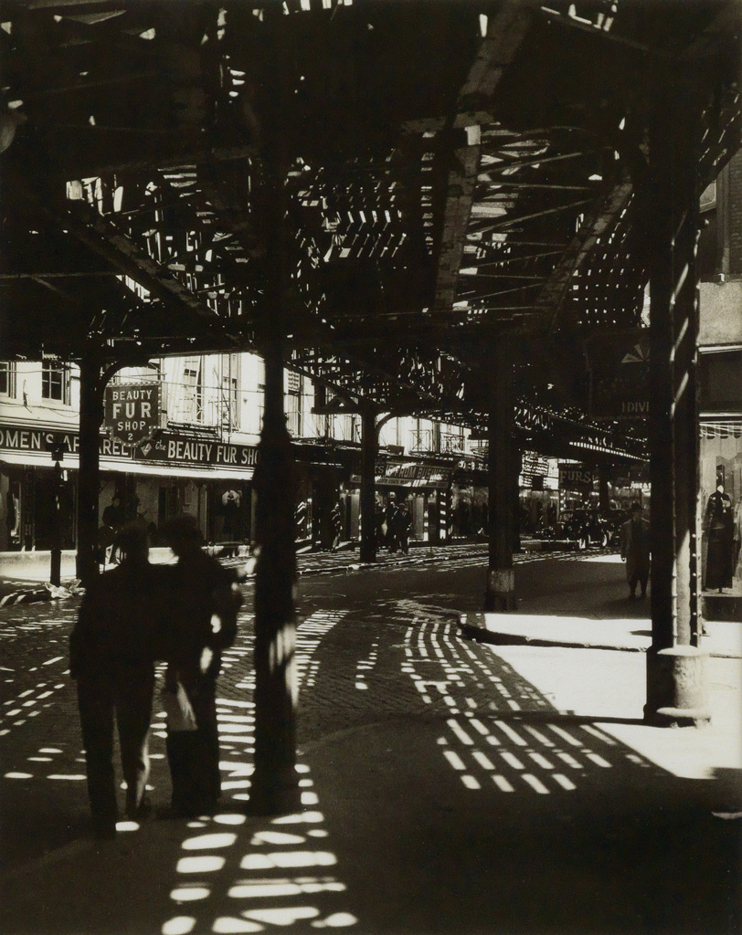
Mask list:
[[[677,103],[682,98],[682,107]],[[698,648],[697,147],[692,94],[660,95],[650,126],[651,724],[702,724],[706,660]]]

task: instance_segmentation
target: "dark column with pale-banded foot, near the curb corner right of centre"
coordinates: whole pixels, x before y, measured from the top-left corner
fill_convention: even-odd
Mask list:
[[[489,381],[489,564],[485,611],[514,611],[513,569],[513,360],[506,340],[493,352]]]

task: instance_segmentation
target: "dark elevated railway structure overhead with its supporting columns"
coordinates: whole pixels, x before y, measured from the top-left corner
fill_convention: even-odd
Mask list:
[[[164,354],[266,362],[257,807],[297,796],[286,365],[364,414],[366,557],[379,420],[487,432],[488,610],[515,603],[518,445],[648,453],[647,717],[677,708],[668,667],[703,655],[698,201],[739,146],[738,4],[0,8],[4,352],[80,363],[83,578],[110,374]],[[589,342],[642,328],[648,420],[596,421]]]

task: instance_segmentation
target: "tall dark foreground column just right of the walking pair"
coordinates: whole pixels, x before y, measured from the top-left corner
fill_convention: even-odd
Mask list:
[[[286,104],[290,66],[282,11],[266,11],[276,50],[270,85],[270,122],[263,127],[262,178],[255,192],[256,228],[263,234],[265,363],[263,427],[255,470],[255,772],[247,811],[298,811],[296,611],[297,579],[294,498],[296,469],[284,415],[286,268]]]

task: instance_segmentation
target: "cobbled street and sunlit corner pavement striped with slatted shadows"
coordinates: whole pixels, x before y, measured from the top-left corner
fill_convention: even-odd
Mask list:
[[[418,556],[422,557],[422,556]],[[218,698],[223,809],[88,831],[66,641],[77,598],[0,611],[4,935],[742,930],[742,670],[710,659],[706,728],[641,721],[644,654],[465,639],[486,557],[298,583],[302,809],[245,813],[252,583]],[[611,556],[525,556],[524,616],[648,628]],[[545,622],[546,621],[546,622]],[[565,623],[566,622],[566,623]],[[715,636],[708,637],[713,643]],[[607,643],[606,643],[607,644]],[[168,798],[155,701],[155,804]]]

